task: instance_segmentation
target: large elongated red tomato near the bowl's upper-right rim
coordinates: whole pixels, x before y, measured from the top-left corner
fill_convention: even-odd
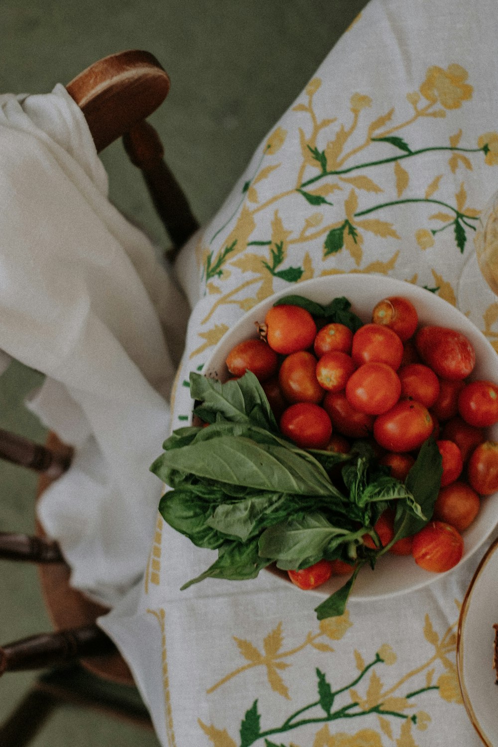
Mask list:
[[[415,336],[423,361],[443,379],[464,379],[476,365],[476,353],[465,335],[455,329],[425,326]]]

